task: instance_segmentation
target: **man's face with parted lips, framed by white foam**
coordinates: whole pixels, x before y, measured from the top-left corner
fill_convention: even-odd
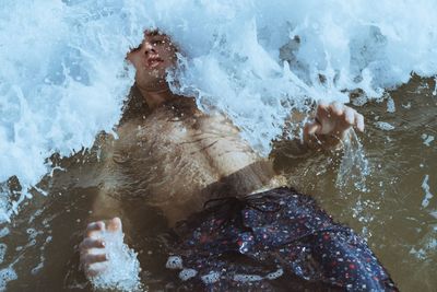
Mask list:
[[[167,35],[156,31],[144,32],[141,45],[127,56],[137,69],[137,85],[151,90],[165,85],[165,72],[175,65],[176,51],[176,47]]]

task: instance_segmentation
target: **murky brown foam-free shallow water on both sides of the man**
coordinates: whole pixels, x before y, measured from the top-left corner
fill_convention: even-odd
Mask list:
[[[390,98],[359,107],[367,121],[365,133],[358,135],[369,168],[365,180],[359,172],[351,175],[359,170],[347,166],[347,175],[338,179],[341,155],[292,159],[286,147],[273,153],[276,167],[293,186],[314,195],[334,219],[368,238],[401,291],[437,287],[437,198],[425,200],[427,192],[437,189],[437,141],[430,141],[437,137],[434,89],[434,80],[413,78],[388,94],[394,113],[390,113]],[[387,130],[390,127],[381,122],[393,128]],[[39,185],[49,190],[48,196],[36,195],[12,223],[0,225],[0,231],[9,229],[1,238],[7,250],[0,270],[12,267],[19,279],[7,283],[8,291],[92,290],[78,271],[76,245],[98,191],[93,176],[101,165],[93,151],[61,160],[59,165],[64,171],[56,171]],[[153,208],[131,203],[139,224],[128,242],[139,253],[144,287],[156,290],[173,275],[165,269],[166,222]]]

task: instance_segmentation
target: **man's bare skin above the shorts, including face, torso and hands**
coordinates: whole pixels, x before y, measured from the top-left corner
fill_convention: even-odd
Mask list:
[[[165,75],[176,65],[176,52],[167,35],[146,31],[142,44],[128,54],[149,113],[118,128],[119,139],[105,162],[119,180],[134,182],[139,195],[163,211],[169,226],[201,211],[208,200],[253,194],[281,184],[271,163],[239,137],[238,129],[226,117],[220,113],[205,115],[196,107],[193,98],[172,93]],[[352,127],[364,130],[363,116],[355,109],[339,103],[319,103],[315,120],[305,125],[304,144],[335,147]],[[117,184],[114,183],[113,191]],[[93,213],[96,220],[113,219],[90,223],[80,245],[81,265],[88,277],[102,272],[94,268],[95,262],[108,260],[105,253],[90,253],[93,248],[105,250],[98,235],[103,231],[121,231],[120,200],[107,192],[98,196]],[[138,194],[125,196],[134,195]]]

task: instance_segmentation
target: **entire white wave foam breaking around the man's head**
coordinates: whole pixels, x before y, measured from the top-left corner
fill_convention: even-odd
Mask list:
[[[16,175],[24,191],[15,201],[0,194],[0,220],[50,173],[54,152],[111,130],[133,80],[123,58],[144,27],[170,34],[188,57],[179,91],[227,113],[267,154],[307,97],[380,97],[411,72],[437,74],[435,11],[434,0],[3,1],[0,182]]]

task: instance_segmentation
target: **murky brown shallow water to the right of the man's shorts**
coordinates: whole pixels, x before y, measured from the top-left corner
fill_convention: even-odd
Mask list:
[[[359,179],[336,186],[339,160],[316,155],[298,162],[296,168],[290,166],[293,160],[283,165],[293,185],[368,238],[401,291],[437,287],[437,200],[434,197],[423,206],[425,185],[430,194],[437,188],[437,144],[426,143],[437,133],[434,86],[434,81],[414,78],[390,92],[394,113],[387,112],[387,100],[359,107],[367,122],[359,139],[370,168],[365,190],[354,185]],[[394,128],[382,130],[379,121]]]

